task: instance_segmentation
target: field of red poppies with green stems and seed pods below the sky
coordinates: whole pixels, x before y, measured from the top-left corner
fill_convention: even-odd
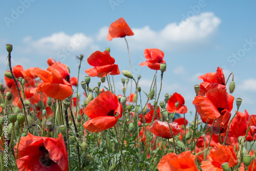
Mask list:
[[[160,96],[168,70],[163,51],[145,49],[139,64],[156,71],[149,92],[140,87],[141,75],[133,76],[126,39],[133,35],[123,18],[110,24],[106,35],[109,41],[124,39],[130,71],[121,70],[106,48],[77,56],[76,77],[70,77],[67,63],[53,58],[46,70],[12,66],[15,45],[6,45],[1,170],[256,170],[256,115],[239,110],[242,99],[232,96],[234,74],[225,77],[218,67],[198,77],[194,120],[188,122],[179,92]],[[81,68],[81,62],[92,68]],[[123,77],[123,94],[115,93],[117,75]]]

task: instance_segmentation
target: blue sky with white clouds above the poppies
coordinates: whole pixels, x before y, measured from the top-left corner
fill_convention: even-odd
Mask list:
[[[86,76],[84,70],[91,68],[87,57],[106,47],[111,48],[120,71],[130,70],[125,40],[106,40],[110,24],[123,17],[135,33],[126,38],[132,72],[136,77],[142,76],[139,82],[142,90],[149,91],[155,73],[139,67],[144,60],[144,49],[158,48],[164,52],[167,63],[160,100],[165,93],[178,92],[185,98],[188,111],[194,114],[194,85],[202,82],[197,77],[222,67],[226,79],[234,73],[237,88],[232,95],[243,99],[240,111],[246,109],[249,114],[256,114],[255,7],[255,1],[209,0],[2,2],[0,73],[8,70],[5,44],[13,45],[12,66],[46,69],[46,61],[52,57],[67,64],[71,76],[77,76],[75,56],[83,54],[80,81]],[[122,77],[114,77],[117,94],[122,92]],[[157,79],[159,90],[160,73]],[[91,80],[93,87],[99,78]],[[235,102],[233,108],[236,110]]]

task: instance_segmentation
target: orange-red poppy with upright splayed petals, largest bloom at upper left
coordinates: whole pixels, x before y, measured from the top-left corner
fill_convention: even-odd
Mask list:
[[[52,67],[48,67],[47,71],[34,68],[33,72],[44,82],[31,89],[31,93],[42,91],[54,99],[65,99],[73,94],[71,84],[62,78],[58,70]]]

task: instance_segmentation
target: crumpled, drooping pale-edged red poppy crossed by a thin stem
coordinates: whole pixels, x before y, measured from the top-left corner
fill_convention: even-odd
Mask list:
[[[172,122],[169,123],[170,129],[172,129],[173,135],[176,136],[180,133],[180,127],[178,123]],[[161,122],[159,120],[155,120],[150,127],[150,132],[155,134],[156,136],[162,137],[162,138],[173,138],[172,133],[170,132],[169,126],[167,122]]]

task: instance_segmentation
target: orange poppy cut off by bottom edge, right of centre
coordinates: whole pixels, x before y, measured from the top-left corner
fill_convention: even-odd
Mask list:
[[[164,170],[189,170],[197,171],[197,165],[195,162],[196,156],[191,154],[191,151],[182,152],[177,155],[175,153],[168,153],[164,155],[157,165],[159,171]]]

